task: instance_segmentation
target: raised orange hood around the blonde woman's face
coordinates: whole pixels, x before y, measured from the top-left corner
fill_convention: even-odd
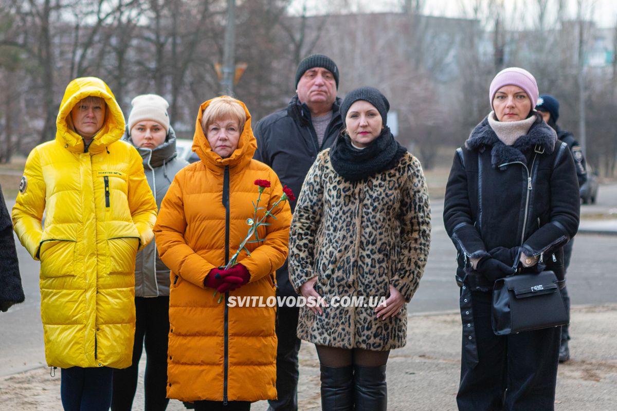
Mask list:
[[[195,122],[195,134],[193,136],[193,151],[197,153],[202,163],[204,163],[207,168],[217,174],[223,173],[223,168],[226,166],[242,169],[252,160],[255,150],[257,150],[257,140],[251,128],[251,113],[249,113],[249,110],[243,102],[237,100],[242,108],[244,108],[246,121],[244,122],[244,128],[238,140],[238,147],[231,153],[230,157],[223,158],[213,152],[208,139],[205,137],[204,130],[201,128],[201,119],[204,110],[213,100],[214,99],[207,100],[199,106],[199,112],[197,113],[197,120]]]

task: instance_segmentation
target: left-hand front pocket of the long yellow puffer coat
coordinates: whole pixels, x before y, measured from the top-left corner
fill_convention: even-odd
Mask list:
[[[77,242],[75,240],[44,240],[39,245],[41,278],[75,275]]]

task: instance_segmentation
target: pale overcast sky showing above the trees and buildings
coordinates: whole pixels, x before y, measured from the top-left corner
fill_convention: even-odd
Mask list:
[[[341,1],[341,0],[339,0]],[[404,0],[348,0],[349,4],[354,4],[355,10],[362,12],[369,11],[393,11],[400,10],[400,4]],[[503,1],[503,0],[502,0]],[[566,16],[569,18],[576,18],[576,4],[578,0],[566,0]],[[292,1],[292,9],[296,13],[302,8],[302,4],[307,3],[309,14],[323,14],[327,10],[322,0],[294,0]],[[476,0],[425,0],[424,14],[439,15],[446,17],[465,17],[466,8],[470,9],[471,4]],[[586,17],[590,17],[590,20],[594,20],[600,27],[614,27],[617,22],[617,0],[583,0],[585,6]],[[336,4],[336,1],[332,3]],[[510,7],[513,1],[503,1],[506,7]],[[529,7],[531,15],[534,17],[536,14],[537,0],[518,0],[516,1],[518,7]],[[549,0],[549,4],[555,8],[557,0]]]

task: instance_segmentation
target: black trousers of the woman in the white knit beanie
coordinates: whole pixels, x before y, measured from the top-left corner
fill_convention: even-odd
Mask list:
[[[137,389],[139,359],[146,346],[144,389],[146,411],[164,411],[167,396],[167,340],[169,333],[169,297],[135,297],[135,343],[133,364],[114,370],[112,411],[130,411]]]

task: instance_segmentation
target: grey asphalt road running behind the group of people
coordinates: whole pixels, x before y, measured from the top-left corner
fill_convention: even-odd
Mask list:
[[[12,201],[9,201],[9,207],[12,205]],[[454,282],[456,253],[445,234],[441,218],[442,201],[433,201],[431,208],[433,242],[420,288],[409,305],[410,312],[414,314],[458,310],[458,287]],[[607,213],[611,208],[617,208],[617,185],[600,187],[598,204],[583,206],[584,213],[587,210]],[[15,242],[26,301],[11,307],[9,312],[0,313],[0,376],[45,364],[38,288],[39,263],[31,259],[17,238]],[[616,262],[615,237],[577,236],[568,273],[572,304],[617,303],[613,283],[609,282],[609,276],[615,272]]]

